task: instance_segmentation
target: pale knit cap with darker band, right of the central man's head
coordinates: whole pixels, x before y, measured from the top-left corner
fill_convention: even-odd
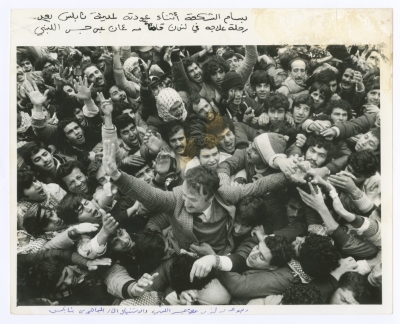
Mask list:
[[[275,154],[282,154],[286,149],[286,140],[283,135],[277,133],[264,133],[254,139],[254,144],[265,164]]]

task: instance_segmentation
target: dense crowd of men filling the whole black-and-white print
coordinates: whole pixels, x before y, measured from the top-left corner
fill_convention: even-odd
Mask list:
[[[17,48],[17,305],[382,303],[371,45]]]

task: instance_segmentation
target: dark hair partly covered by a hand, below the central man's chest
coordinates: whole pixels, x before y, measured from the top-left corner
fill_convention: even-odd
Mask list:
[[[193,264],[196,258],[181,254],[174,258],[171,267],[169,269],[169,276],[171,280],[171,288],[175,290],[179,296],[182,291],[185,290],[201,290],[208,285],[214,277],[214,271],[211,272],[204,278],[194,277],[193,282],[190,282],[190,272],[192,271]]]

